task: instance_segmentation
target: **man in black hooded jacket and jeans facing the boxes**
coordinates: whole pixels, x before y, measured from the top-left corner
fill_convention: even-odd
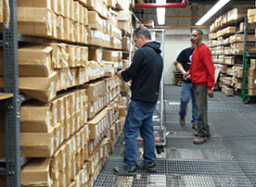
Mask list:
[[[155,134],[152,116],[159,98],[163,60],[160,44],[151,41],[146,28],[134,31],[138,50],[129,69],[117,74],[123,81],[132,80],[132,98],[128,107],[123,134],[125,138],[122,167],[114,168],[117,175],[134,175],[136,168],[156,170]],[[144,161],[137,164],[137,135],[143,138]]]

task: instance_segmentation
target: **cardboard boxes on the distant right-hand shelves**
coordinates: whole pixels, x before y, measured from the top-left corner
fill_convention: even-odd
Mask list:
[[[216,19],[211,24],[210,30],[210,47],[212,53],[212,59],[215,64],[220,64],[224,70],[221,71],[220,85],[226,95],[239,94],[241,89],[242,78],[242,56],[244,53],[244,33],[237,31],[244,31],[245,23],[240,22],[238,27],[234,26],[235,21],[243,20],[245,16],[248,16],[249,23],[248,30],[254,30],[255,9],[248,8],[235,8]],[[253,21],[252,21],[253,18]],[[256,36],[254,34],[248,34],[247,42],[255,43]],[[247,45],[247,51],[249,53],[256,53],[254,45]],[[238,66],[237,66],[238,65]],[[250,71],[250,94],[254,94],[252,88],[253,70]],[[249,85],[248,85],[249,86]],[[235,92],[234,92],[235,91]]]

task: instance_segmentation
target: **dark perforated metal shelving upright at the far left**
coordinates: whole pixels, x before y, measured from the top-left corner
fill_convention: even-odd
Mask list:
[[[1,43],[4,62],[3,95],[12,95],[1,101],[2,109],[5,110],[6,158],[1,160],[0,174],[6,175],[7,187],[19,187],[22,164],[19,143],[19,108],[23,97],[19,94],[17,0],[8,0],[7,3],[9,4],[9,22],[3,23]]]

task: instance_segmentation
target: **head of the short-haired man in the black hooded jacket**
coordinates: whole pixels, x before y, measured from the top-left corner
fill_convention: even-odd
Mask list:
[[[134,44],[140,48],[151,41],[151,34],[145,27],[139,27],[134,31]]]

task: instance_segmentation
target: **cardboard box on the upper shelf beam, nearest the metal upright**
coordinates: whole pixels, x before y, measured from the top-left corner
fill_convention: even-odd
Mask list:
[[[53,13],[50,10],[40,7],[18,7],[17,11],[19,33],[43,37],[53,36]]]

